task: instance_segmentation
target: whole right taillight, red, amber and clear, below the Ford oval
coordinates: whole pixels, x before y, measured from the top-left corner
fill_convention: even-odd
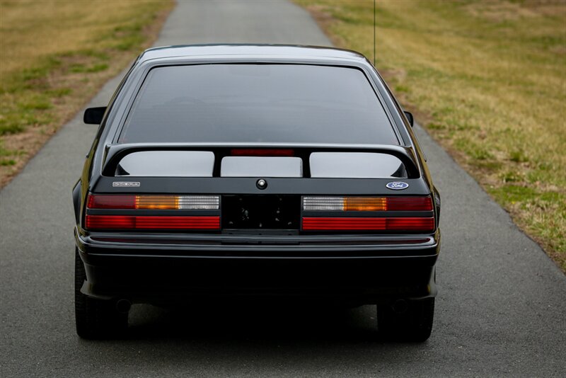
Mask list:
[[[305,196],[303,197],[302,229],[304,231],[432,232],[435,227],[432,210],[430,196]],[[357,213],[352,217],[349,212]],[[388,212],[395,212],[395,214],[390,216]],[[408,212],[407,216],[403,212]],[[364,216],[358,214],[364,214]]]

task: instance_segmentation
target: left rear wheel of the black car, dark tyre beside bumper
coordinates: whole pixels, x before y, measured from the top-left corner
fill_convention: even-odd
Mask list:
[[[116,310],[114,301],[87,297],[81,293],[86,273],[79,251],[75,248],[75,323],[81,338],[112,338],[123,336],[128,326],[128,314]]]

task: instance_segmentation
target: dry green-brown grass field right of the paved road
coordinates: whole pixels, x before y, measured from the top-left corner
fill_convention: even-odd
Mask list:
[[[373,56],[374,2],[295,0]],[[377,0],[400,101],[566,272],[566,0]]]

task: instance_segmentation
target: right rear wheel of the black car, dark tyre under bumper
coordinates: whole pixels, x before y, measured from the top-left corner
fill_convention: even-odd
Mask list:
[[[378,332],[386,340],[423,342],[430,337],[433,319],[434,298],[377,307]]]

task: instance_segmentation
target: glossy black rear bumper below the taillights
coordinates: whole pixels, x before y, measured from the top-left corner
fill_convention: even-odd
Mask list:
[[[86,234],[82,292],[162,304],[221,297],[373,304],[436,294],[440,234],[235,236]],[[286,244],[282,244],[286,243]]]

